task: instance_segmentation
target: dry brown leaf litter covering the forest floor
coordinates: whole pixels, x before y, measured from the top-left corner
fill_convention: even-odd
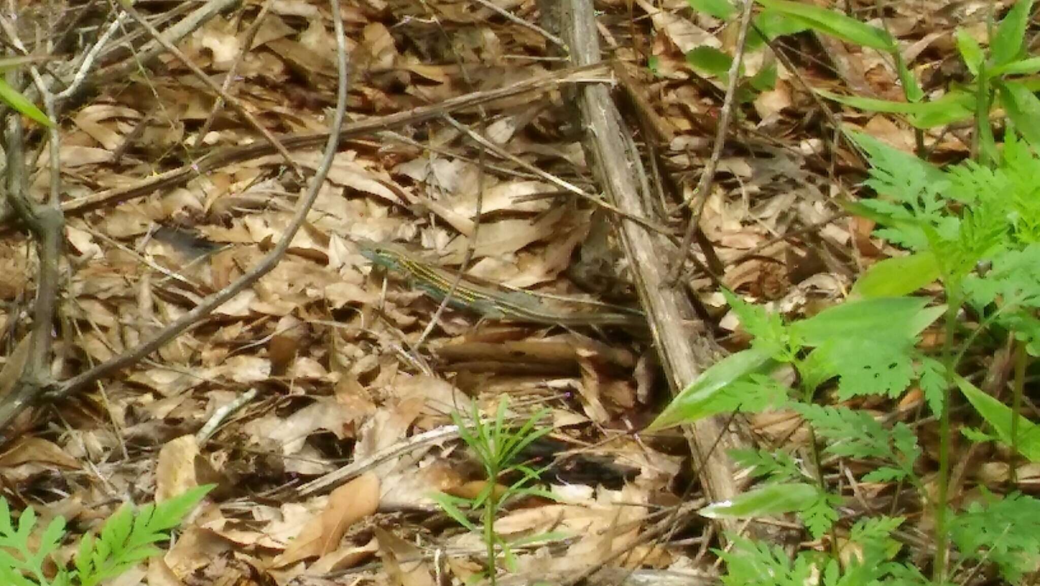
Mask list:
[[[537,17],[532,2],[494,3]],[[335,103],[328,7],[317,0],[271,2],[246,47],[245,30],[263,2],[244,4],[210,19],[181,49],[217,79],[241,55],[234,92],[272,131],[323,131]],[[662,10],[642,0],[604,1],[597,8],[616,58],[646,62],[644,51],[655,62],[656,75],[622,67],[676,130],[660,146],[659,163],[678,195],[690,198],[724,85],[695,71],[685,53],[729,47],[733,34],[684,2],[671,4]],[[946,26],[946,3],[911,4],[896,3],[888,25],[916,57],[915,68],[938,68],[955,48],[926,31]],[[343,9],[354,120],[549,71],[544,37],[477,3],[365,0]],[[825,55],[809,39],[790,42],[804,57],[798,74],[813,87],[889,97],[898,86],[896,72],[876,51],[842,46]],[[820,113],[795,72],[775,63],[768,47],[749,51],[746,63],[749,75],[774,63],[777,82],[744,109],[704,206],[700,224],[724,272],[697,273],[688,283],[731,349],[742,343],[738,324],[713,292],[716,279],[787,315],[805,315],[841,298],[861,267],[888,254],[861,219],[841,219],[835,200],[855,188],[862,168],[853,153],[832,151],[828,137],[813,133],[818,125],[807,119]],[[487,104],[483,132],[523,161],[595,192],[566,96],[553,90]],[[134,185],[208,150],[256,141],[227,108],[206,136],[194,134],[213,110],[213,100],[172,58],[100,87],[60,129],[67,197]],[[899,149],[914,147],[906,124],[843,114]],[[457,116],[480,123],[475,109]],[[956,136],[933,142],[945,155],[968,148]],[[291,154],[312,171],[320,158],[312,149]],[[45,151],[30,182],[35,196],[46,190],[43,170],[50,164]],[[127,352],[244,274],[279,239],[301,195],[285,161],[270,155],[70,215],[62,335],[52,371],[66,377]],[[479,536],[452,525],[430,493],[472,495],[484,481],[458,434],[413,439],[443,431],[449,413],[468,412],[471,401],[493,413],[497,398],[509,393],[515,415],[548,406],[554,428],[531,458],[548,464],[542,478],[555,502],[527,498],[496,526],[509,539],[554,535],[517,549],[521,575],[566,577],[606,564],[713,577],[713,559],[699,553],[705,519],[672,541],[640,539],[694,498],[685,492],[692,463],[681,437],[634,433],[668,398],[646,339],[485,322],[449,308],[416,352],[437,303],[373,267],[356,245],[404,243],[454,267],[472,248],[467,270],[474,277],[616,302],[610,290],[580,278],[589,269],[580,265],[582,243],[603,222],[602,210],[508,159],[480,154],[438,119],[347,139],[274,271],[151,359],[40,414],[46,425],[20,421],[27,435],[4,447],[0,477],[22,503],[44,516],[64,515],[82,531],[125,500],[162,500],[216,482],[219,489],[165,555],[120,584],[463,583],[480,571]],[[24,238],[8,234],[4,241],[0,292],[7,303],[0,323],[7,332],[5,366],[15,366],[38,260]],[[606,271],[624,282],[629,267],[619,249],[610,250],[614,265]],[[707,262],[702,253],[698,260]],[[207,437],[198,435],[246,392],[255,398],[218,417]],[[766,439],[806,441],[789,413],[751,423]],[[301,490],[352,464],[357,472],[338,486]],[[1008,477],[1002,465],[990,462],[977,474],[999,483]],[[1037,477],[1031,470],[1019,469],[1020,482]],[[619,551],[629,554],[613,556]]]

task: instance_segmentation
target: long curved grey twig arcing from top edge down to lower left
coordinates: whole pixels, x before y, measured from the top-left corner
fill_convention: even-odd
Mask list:
[[[336,96],[336,111],[333,116],[331,128],[339,128],[343,123],[344,113],[346,111],[346,90],[347,90],[347,63],[346,63],[346,41],[343,33],[343,23],[339,17],[339,4],[337,0],[331,0],[333,14],[333,24],[335,26],[336,34],[336,63],[337,71],[339,75],[337,96]],[[304,198],[301,198],[297,204],[296,211],[292,216],[289,225],[286,227],[285,232],[283,232],[282,237],[275,245],[275,248],[264,256],[260,262],[254,266],[250,272],[245,273],[238,278],[235,282],[231,283],[224,289],[213,294],[203,300],[198,306],[196,306],[190,311],[183,314],[180,319],[170,324],[161,331],[159,331],[155,336],[153,336],[147,342],[140,345],[133,351],[118,356],[107,362],[103,362],[98,366],[95,366],[85,373],[77,375],[72,379],[63,381],[54,386],[54,388],[48,393],[47,397],[51,399],[57,399],[66,397],[72,392],[80,390],[85,386],[94,383],[98,379],[108,376],[121,368],[129,366],[136,363],[140,359],[145,358],[152,352],[161,348],[167,341],[174,339],[184,331],[191,327],[197,326],[203,319],[210,314],[216,307],[226,301],[232,299],[240,291],[244,290],[246,287],[256,283],[261,277],[266,275],[274,269],[278,262],[282,259],[285,252],[289,248],[289,244],[292,238],[296,235],[296,232],[303,226],[307,219],[307,213],[310,211],[311,206],[314,204],[315,199],[317,199],[318,192],[320,190],[321,184],[324,182],[326,176],[329,174],[329,169],[332,167],[332,162],[336,156],[336,150],[339,146],[339,133],[335,131],[329,132],[328,142],[326,144],[324,152],[322,154],[321,162],[318,164],[315,171],[314,177],[311,179],[311,183],[308,186],[307,194]],[[0,419],[0,429],[6,425],[9,421]]]

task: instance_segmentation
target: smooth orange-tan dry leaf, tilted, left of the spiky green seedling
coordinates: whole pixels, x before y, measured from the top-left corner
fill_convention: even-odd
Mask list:
[[[336,551],[346,530],[355,523],[374,514],[379,504],[380,479],[371,473],[333,490],[324,510],[289,542],[285,552],[275,560],[275,567]]]

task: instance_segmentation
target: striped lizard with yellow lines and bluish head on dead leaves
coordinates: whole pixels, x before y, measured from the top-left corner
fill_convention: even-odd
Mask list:
[[[361,253],[373,263],[405,275],[416,288],[437,301],[442,301],[451,290],[456,274],[420,260],[400,247],[367,240],[359,240],[358,246]],[[501,290],[474,283],[466,277],[459,282],[448,304],[457,309],[479,313],[490,320],[560,326],[646,327],[646,317],[638,309],[567,311],[549,307],[535,294]]]

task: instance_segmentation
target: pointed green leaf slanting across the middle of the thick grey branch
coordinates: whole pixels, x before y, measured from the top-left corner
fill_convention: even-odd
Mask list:
[[[736,354],[730,354],[701,373],[697,380],[682,389],[647,430],[657,431],[681,424],[691,424],[713,414],[707,409],[707,406],[720,391],[742,377],[756,372],[769,371],[775,365],[771,353],[763,349],[751,348]]]

